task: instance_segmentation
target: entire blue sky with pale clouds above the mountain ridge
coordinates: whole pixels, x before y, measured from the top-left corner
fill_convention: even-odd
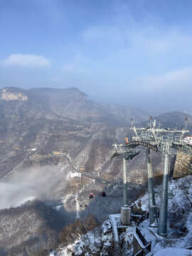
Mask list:
[[[192,114],[191,0],[0,0],[0,87]]]

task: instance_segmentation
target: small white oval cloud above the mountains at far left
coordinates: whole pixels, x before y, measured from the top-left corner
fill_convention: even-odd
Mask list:
[[[20,67],[48,67],[50,60],[43,56],[34,54],[16,53],[9,55],[8,58],[2,61],[6,66],[20,66]]]

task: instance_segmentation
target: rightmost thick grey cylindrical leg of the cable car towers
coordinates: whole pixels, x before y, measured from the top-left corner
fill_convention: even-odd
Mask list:
[[[164,177],[162,184],[162,194],[161,194],[161,206],[159,213],[159,228],[158,235],[166,236],[167,234],[167,206],[168,206],[168,181],[169,181],[169,151],[170,145],[169,142],[164,144]]]

